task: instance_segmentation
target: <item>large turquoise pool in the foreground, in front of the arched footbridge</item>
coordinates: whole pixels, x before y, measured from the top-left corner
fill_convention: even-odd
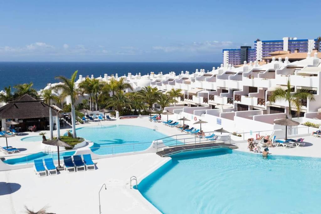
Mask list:
[[[162,213],[320,213],[321,159],[219,149],[179,154],[142,180]]]

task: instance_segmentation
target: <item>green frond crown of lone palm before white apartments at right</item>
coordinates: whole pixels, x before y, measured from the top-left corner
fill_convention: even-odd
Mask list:
[[[276,101],[286,101],[289,103],[288,118],[292,118],[292,107],[296,109],[296,116],[300,115],[303,99],[309,99],[310,101],[315,100],[314,96],[310,94],[308,90],[297,90],[296,92],[291,92],[291,82],[289,79],[287,81],[286,89],[278,87],[273,91],[272,95],[270,96],[270,101],[273,103]]]

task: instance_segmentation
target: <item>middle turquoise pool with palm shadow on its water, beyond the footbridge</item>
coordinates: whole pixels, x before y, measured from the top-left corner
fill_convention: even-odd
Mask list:
[[[132,125],[87,126],[77,129],[77,136],[94,142],[91,151],[98,155],[143,151],[152,141],[167,137],[153,129]]]

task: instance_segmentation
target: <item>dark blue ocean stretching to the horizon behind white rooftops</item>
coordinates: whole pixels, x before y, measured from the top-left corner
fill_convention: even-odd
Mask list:
[[[181,71],[195,72],[195,69],[212,71],[213,67],[221,63],[165,63],[165,62],[0,62],[0,90],[6,86],[33,82],[36,90],[43,89],[48,83],[55,83],[56,76],[70,77],[78,70],[78,75],[103,77],[118,73],[123,76],[127,73],[141,73],[145,75],[150,72],[163,72],[163,74],[174,71],[176,74]],[[77,77],[78,79],[78,77]]]

